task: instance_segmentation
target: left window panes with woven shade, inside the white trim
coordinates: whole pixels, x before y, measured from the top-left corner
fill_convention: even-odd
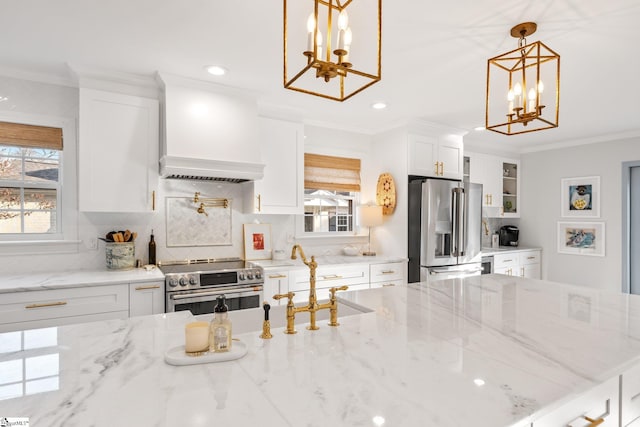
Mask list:
[[[59,234],[62,129],[0,122],[0,235]]]

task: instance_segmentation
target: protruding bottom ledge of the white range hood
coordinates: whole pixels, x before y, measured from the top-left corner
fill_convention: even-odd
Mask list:
[[[160,175],[167,179],[247,182],[262,179],[264,165],[259,163],[205,160],[163,156]]]

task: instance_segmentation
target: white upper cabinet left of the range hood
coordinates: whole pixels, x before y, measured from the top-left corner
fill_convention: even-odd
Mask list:
[[[154,210],[158,138],[157,100],[81,88],[80,211]]]

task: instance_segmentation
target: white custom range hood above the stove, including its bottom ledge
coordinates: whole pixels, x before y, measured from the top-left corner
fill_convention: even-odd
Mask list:
[[[255,98],[237,89],[159,74],[164,89],[160,175],[246,182],[262,179]]]

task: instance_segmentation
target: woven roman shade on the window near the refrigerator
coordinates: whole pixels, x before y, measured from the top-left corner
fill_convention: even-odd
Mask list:
[[[360,159],[305,153],[304,188],[359,192]]]

